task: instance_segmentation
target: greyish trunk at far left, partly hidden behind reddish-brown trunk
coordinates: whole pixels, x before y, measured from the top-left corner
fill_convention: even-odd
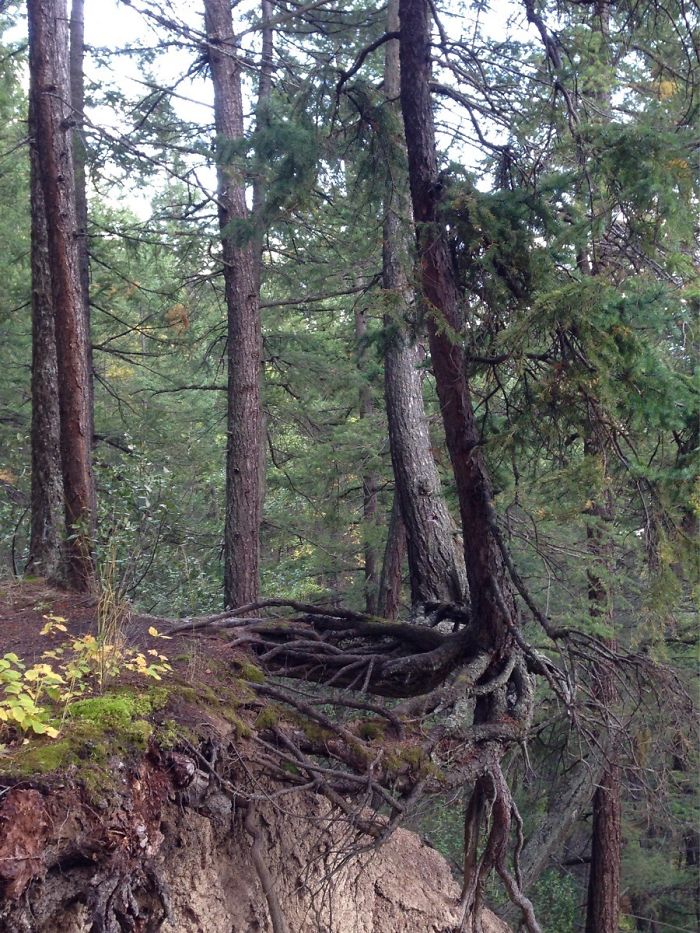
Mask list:
[[[51,295],[51,268],[36,140],[30,101],[29,139],[32,210],[32,488],[27,572],[55,577],[63,540],[63,477],[60,456],[58,364]]]

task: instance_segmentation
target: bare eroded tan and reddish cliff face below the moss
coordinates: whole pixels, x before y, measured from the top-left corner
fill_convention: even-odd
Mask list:
[[[261,783],[239,801],[179,752],[120,766],[122,790],[101,805],[72,783],[6,787],[0,929],[273,931],[274,905],[288,933],[458,928],[449,865],[415,833],[375,849],[311,791]],[[487,915],[484,933],[507,929]]]

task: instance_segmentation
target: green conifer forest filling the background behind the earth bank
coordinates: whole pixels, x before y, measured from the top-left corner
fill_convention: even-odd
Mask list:
[[[529,644],[549,650],[552,631],[575,629],[643,660],[613,691],[607,722],[624,732],[608,769],[622,798],[619,929],[696,929],[697,749],[665,684],[672,670],[696,692],[697,9],[430,4],[439,174],[423,219],[411,177],[416,246],[397,5],[237,5],[238,135],[214,111],[217,5],[85,10],[85,102],[73,113],[88,202],[97,577],[169,617],[262,596],[421,624],[466,601],[466,547],[474,605],[436,385],[440,339],[458,346]],[[0,566],[43,575],[32,559],[27,12],[0,11]],[[91,18],[111,16],[131,39],[94,44]],[[231,191],[242,200],[222,219]],[[433,228],[456,283],[453,321],[421,283]],[[241,538],[240,465],[226,452],[252,424],[231,420],[243,394],[231,379],[245,369],[231,270],[241,275],[246,256],[259,277],[261,443],[249,457],[262,511],[258,522],[257,504],[239,503],[252,522]],[[241,582],[258,525],[259,567]],[[596,658],[607,656],[581,660],[581,644],[552,656],[604,706]],[[596,736],[538,687],[527,752],[504,764],[527,893],[553,933],[584,929],[593,817],[581,764]],[[458,870],[464,794],[426,798],[412,817]],[[487,893],[513,921],[505,894]]]

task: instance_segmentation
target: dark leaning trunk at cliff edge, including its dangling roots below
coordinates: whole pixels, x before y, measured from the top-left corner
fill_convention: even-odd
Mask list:
[[[437,153],[430,98],[430,0],[400,0],[401,109],[416,224],[422,300],[425,307],[433,372],[447,447],[459,499],[464,558],[471,602],[471,633],[490,656],[489,669],[502,670],[505,659],[514,667],[507,685],[476,701],[478,725],[512,718],[527,728],[533,705],[530,675],[521,654],[519,615],[507,575],[505,553],[496,527],[491,482],[479,444],[464,350],[461,345],[459,293],[445,230],[438,216]],[[509,692],[512,691],[512,692]],[[518,903],[530,933],[539,933],[532,904],[523,895],[517,875],[506,863],[513,813],[500,758],[507,741],[491,742],[483,756],[465,812],[464,928],[480,929],[484,885],[492,869]],[[478,838],[490,812],[488,838],[479,857]]]

